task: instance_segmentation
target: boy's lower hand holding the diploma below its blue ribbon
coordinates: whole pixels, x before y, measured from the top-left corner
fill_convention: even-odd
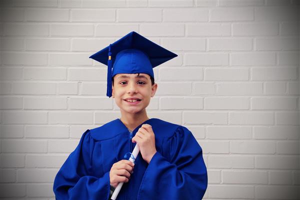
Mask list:
[[[109,171],[110,185],[116,187],[119,182],[128,182],[133,166],[134,163],[126,159],[113,163]]]

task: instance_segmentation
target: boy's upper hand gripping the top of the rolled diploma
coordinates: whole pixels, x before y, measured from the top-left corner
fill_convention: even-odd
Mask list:
[[[156,153],[155,135],[151,125],[142,124],[141,127],[138,128],[134,137],[132,137],[132,142],[136,142],[138,144],[142,158],[149,163],[153,155]]]

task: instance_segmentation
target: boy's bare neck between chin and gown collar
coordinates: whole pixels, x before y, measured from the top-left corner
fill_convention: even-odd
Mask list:
[[[138,125],[140,125],[145,120],[149,119],[147,116],[146,111],[141,113],[121,113],[120,120],[123,122],[123,124],[129,128],[130,131],[134,130]]]

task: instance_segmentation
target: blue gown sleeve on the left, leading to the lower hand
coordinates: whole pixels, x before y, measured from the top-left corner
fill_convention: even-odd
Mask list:
[[[86,130],[55,176],[56,199],[108,199],[109,171],[101,177],[90,175],[93,148],[94,140]]]

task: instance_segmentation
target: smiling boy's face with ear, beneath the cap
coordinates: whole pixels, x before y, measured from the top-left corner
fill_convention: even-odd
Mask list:
[[[146,73],[118,73],[114,76],[111,94],[121,111],[137,113],[148,106],[156,89],[157,84],[151,85]]]

